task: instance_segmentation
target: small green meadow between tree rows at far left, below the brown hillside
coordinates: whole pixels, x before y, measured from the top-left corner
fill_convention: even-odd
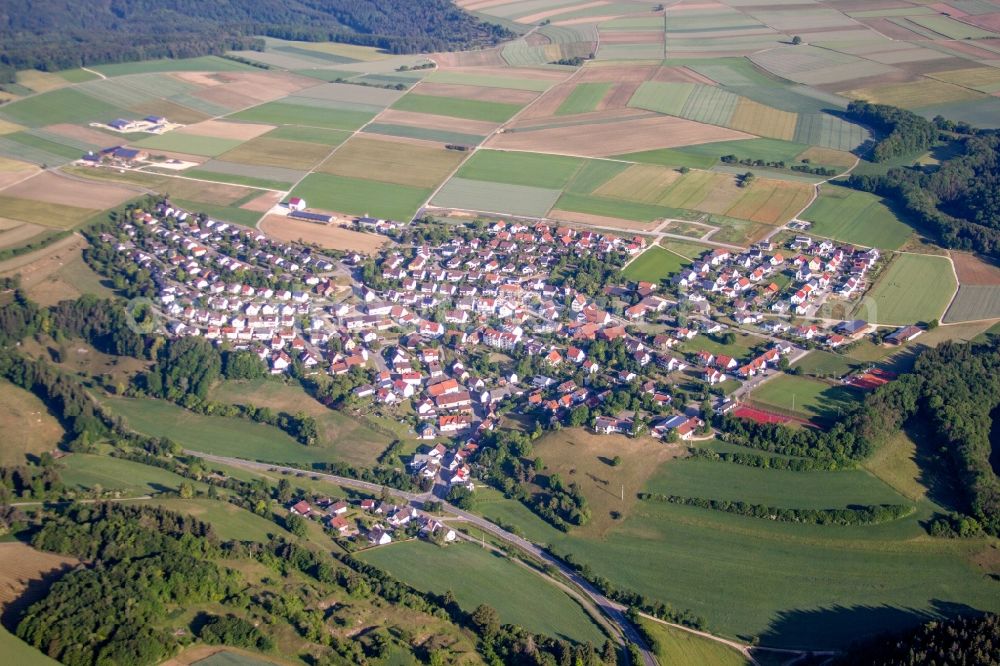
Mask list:
[[[60,471],[63,483],[69,488],[101,486],[122,491],[126,497],[174,492],[186,480],[159,467],[110,456],[74,453],[59,464],[64,467]],[[204,489],[200,483],[196,486]]]

